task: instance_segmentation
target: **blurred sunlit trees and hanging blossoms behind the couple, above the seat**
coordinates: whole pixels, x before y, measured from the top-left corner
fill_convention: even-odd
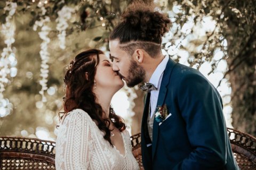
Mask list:
[[[63,77],[76,54],[99,48],[129,0],[0,1],[0,136],[55,140]],[[201,71],[223,99],[227,126],[256,136],[256,2],[148,0],[169,16],[163,54]],[[143,96],[124,87],[112,105],[140,132]]]

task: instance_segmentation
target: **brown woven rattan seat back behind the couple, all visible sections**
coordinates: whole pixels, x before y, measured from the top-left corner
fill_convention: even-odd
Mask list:
[[[228,128],[228,135],[236,161],[241,168],[256,169],[256,138],[244,132]],[[132,153],[143,169],[141,135],[132,135]],[[0,137],[0,169],[55,169],[55,142]]]

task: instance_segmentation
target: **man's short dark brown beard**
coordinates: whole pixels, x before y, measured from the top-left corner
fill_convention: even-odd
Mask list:
[[[134,87],[137,84],[145,80],[146,72],[145,70],[138,65],[135,61],[131,60],[129,67],[129,74],[125,78],[125,82],[128,87]]]

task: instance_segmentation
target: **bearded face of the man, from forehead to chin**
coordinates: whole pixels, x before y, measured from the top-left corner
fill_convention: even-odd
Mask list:
[[[121,75],[128,87],[134,87],[145,79],[145,70],[124,50],[119,48],[118,40],[109,41],[113,70]]]

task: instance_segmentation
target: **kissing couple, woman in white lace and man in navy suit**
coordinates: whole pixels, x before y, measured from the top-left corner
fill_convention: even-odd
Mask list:
[[[123,80],[128,87],[145,82],[144,169],[239,169],[217,89],[197,70],[162,54],[169,28],[165,15],[133,3],[110,33],[113,62],[98,49],[70,62],[56,169],[140,169],[125,123],[110,106]]]

